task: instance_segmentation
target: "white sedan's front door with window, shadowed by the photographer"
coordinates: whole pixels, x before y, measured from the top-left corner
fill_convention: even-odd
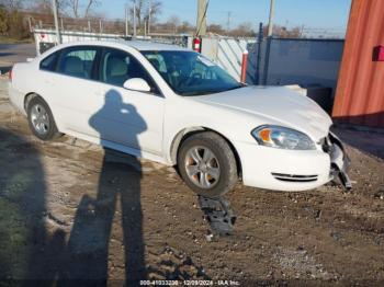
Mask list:
[[[153,91],[123,88],[132,78],[146,80]],[[138,60],[126,51],[103,48],[98,79],[92,84],[91,94],[97,99],[92,101],[103,104],[90,115],[89,126],[101,139],[161,154],[165,99]]]

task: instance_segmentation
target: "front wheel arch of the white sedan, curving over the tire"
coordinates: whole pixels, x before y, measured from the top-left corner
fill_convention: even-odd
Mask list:
[[[205,133],[205,131],[215,133],[218,136],[221,136],[222,138],[224,138],[224,140],[228,144],[229,148],[234,152],[234,156],[236,159],[236,165],[237,165],[237,173],[238,173],[238,175],[241,175],[242,168],[241,168],[240,157],[239,157],[235,146],[231,144],[231,141],[226,136],[224,136],[222,133],[219,133],[215,129],[208,128],[208,127],[204,127],[204,126],[194,126],[194,127],[183,128],[173,137],[171,148],[170,148],[170,159],[171,159],[172,164],[177,164],[177,162],[178,162],[177,158],[178,158],[179,149],[180,149],[182,142],[187,138],[189,138],[190,136],[192,136],[194,134]]]

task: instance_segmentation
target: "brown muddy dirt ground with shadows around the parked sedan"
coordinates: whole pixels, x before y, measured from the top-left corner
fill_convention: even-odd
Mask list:
[[[44,279],[42,286],[101,279],[92,282],[97,286],[104,278],[109,286],[125,278],[129,286],[145,278],[215,286],[384,284],[380,158],[347,147],[355,181],[350,194],[331,183],[301,193],[238,185],[226,196],[237,214],[235,233],[212,237],[196,196],[172,168],[70,137],[36,140],[10,105],[4,80],[0,123],[1,279]]]

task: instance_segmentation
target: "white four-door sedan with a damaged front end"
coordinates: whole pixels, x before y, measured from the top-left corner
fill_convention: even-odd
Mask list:
[[[284,87],[246,87],[202,55],[147,42],[58,45],[14,65],[10,99],[33,134],[178,165],[194,192],[320,186],[345,173],[330,117]]]

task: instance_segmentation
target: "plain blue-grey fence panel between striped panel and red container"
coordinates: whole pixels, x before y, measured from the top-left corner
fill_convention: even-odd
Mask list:
[[[250,48],[248,64],[257,67],[259,72],[250,71],[247,81],[252,84],[300,84],[335,90],[343,43],[342,39],[266,39]]]

